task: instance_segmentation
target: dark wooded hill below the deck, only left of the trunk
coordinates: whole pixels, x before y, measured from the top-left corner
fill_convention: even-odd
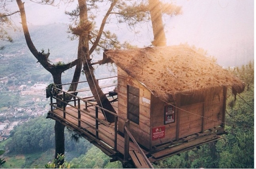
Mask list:
[[[45,116],[35,118],[13,130],[6,147],[10,153],[34,153],[54,147],[54,121]]]

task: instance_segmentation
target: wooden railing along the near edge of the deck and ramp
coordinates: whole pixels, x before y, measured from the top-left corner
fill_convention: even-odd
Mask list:
[[[70,84],[70,83],[67,83],[67,84]],[[143,158],[148,163],[149,168],[153,168],[152,164],[149,162],[149,160],[146,157],[145,153],[143,152],[143,150],[140,148],[140,146],[137,143],[137,141],[132,136],[132,134],[131,134],[131,132],[129,130],[129,123],[130,123],[130,121],[128,119],[125,119],[122,116],[120,116],[120,115],[118,115],[118,114],[116,114],[114,112],[111,112],[111,111],[109,111],[107,109],[104,109],[104,108],[98,106],[97,104],[94,104],[94,103],[88,101],[88,99],[81,98],[79,96],[74,95],[73,93],[67,92],[65,90],[58,89],[58,88],[56,88],[54,86],[53,86],[53,88],[54,88],[55,91],[57,91],[57,94],[56,95],[51,95],[51,97],[50,97],[50,101],[51,101],[50,105],[51,105],[51,111],[52,112],[54,112],[54,109],[59,109],[59,110],[63,111],[63,119],[66,119],[66,115],[68,114],[73,119],[78,121],[78,126],[77,127],[79,127],[79,128],[81,128],[81,123],[84,123],[84,124],[88,125],[89,127],[94,128],[96,134],[95,134],[95,136],[90,136],[90,137],[93,140],[97,141],[97,142],[100,141],[99,133],[102,134],[102,135],[105,135],[104,132],[101,132],[99,130],[99,123],[101,123],[101,124],[103,124],[105,126],[111,127],[114,130],[114,138],[109,138],[109,136],[107,136],[107,135],[105,135],[105,137],[108,137],[109,139],[113,140],[113,142],[114,142],[113,149],[114,149],[115,152],[118,152],[117,151],[117,134],[118,134],[117,133],[117,131],[118,131],[118,129],[117,129],[117,122],[118,122],[118,119],[122,119],[125,122],[125,124],[124,124],[124,144],[125,145],[124,145],[123,160],[127,161],[130,158],[129,157],[129,142],[130,142],[130,138],[131,138],[132,142],[136,145],[136,147],[138,148],[139,152],[143,155]],[[65,100],[65,98],[72,98],[72,99]],[[56,102],[53,102],[53,99],[55,99]],[[81,101],[84,102],[86,105],[90,105],[90,106],[95,107],[95,116],[89,114],[86,110],[81,109]],[[57,104],[58,104],[58,106],[57,106]],[[61,107],[59,107],[59,105],[61,105]],[[67,106],[70,106],[70,107],[73,107],[74,109],[76,109],[77,116],[73,116],[68,111],[66,111],[66,107]],[[115,117],[114,127],[111,126],[107,121],[99,119],[99,117],[98,117],[99,116],[99,114],[98,114],[99,113],[99,109],[102,110],[102,111],[108,112],[108,113],[112,114]],[[84,114],[90,116],[91,118],[95,119],[95,126],[86,123],[86,121],[82,121],[81,113],[84,113]],[[104,140],[102,140],[102,141],[104,141]]]

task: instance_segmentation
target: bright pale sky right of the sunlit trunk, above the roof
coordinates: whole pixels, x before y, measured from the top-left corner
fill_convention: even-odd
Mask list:
[[[254,59],[253,0],[179,0],[183,15],[167,23],[168,45],[187,42],[223,66]]]

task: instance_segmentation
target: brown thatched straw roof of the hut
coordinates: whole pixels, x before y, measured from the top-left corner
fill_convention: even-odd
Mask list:
[[[232,73],[187,45],[105,50],[103,58],[110,58],[165,101],[179,93],[207,93],[223,86],[231,87],[234,94],[244,90]]]

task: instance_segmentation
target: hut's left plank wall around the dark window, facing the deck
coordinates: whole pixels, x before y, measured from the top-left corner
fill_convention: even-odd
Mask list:
[[[127,85],[140,89],[139,124],[130,122],[130,131],[136,141],[150,148],[150,99],[151,93],[137,80],[132,79],[118,67],[118,114],[127,118]],[[149,103],[148,103],[149,101]],[[118,121],[118,130],[123,133],[124,122]]]

